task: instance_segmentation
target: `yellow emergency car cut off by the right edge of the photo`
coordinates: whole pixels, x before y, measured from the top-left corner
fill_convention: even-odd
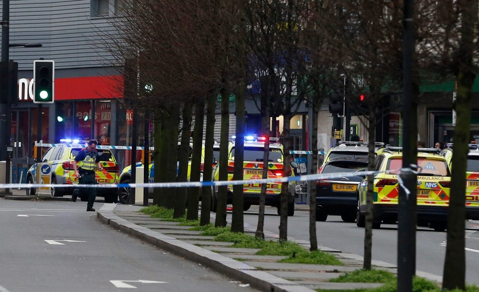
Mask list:
[[[448,161],[451,170],[453,158],[453,144],[441,151]],[[470,144],[468,162],[466,164],[466,219],[479,220],[479,145]]]

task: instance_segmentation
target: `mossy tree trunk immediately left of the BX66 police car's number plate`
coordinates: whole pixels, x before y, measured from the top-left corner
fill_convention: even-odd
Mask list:
[[[220,164],[219,180],[228,180],[228,144],[230,135],[230,95],[226,89],[221,90],[221,141],[220,141]],[[216,227],[226,226],[226,205],[228,200],[228,186],[218,187],[218,203],[216,210]]]

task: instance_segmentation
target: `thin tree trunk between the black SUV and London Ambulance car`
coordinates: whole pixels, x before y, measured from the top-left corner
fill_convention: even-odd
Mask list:
[[[368,127],[368,170],[374,169],[376,140],[376,105],[369,103],[369,127]],[[371,270],[372,245],[373,245],[373,191],[374,175],[368,175],[368,191],[366,194],[366,218],[364,226],[364,270]]]

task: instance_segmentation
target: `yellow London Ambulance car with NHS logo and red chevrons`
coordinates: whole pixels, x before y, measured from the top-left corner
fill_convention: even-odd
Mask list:
[[[418,225],[436,231],[447,227],[451,171],[440,149],[418,148],[419,174],[417,180]],[[395,223],[398,219],[399,183],[402,167],[402,147],[386,147],[376,156],[376,174],[373,182],[373,228],[381,223]],[[358,187],[358,227],[364,227],[368,182],[364,178]]]

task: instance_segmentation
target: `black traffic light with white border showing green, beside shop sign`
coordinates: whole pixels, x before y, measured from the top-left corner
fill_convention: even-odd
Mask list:
[[[55,62],[33,61],[33,102],[51,104],[55,100]]]

